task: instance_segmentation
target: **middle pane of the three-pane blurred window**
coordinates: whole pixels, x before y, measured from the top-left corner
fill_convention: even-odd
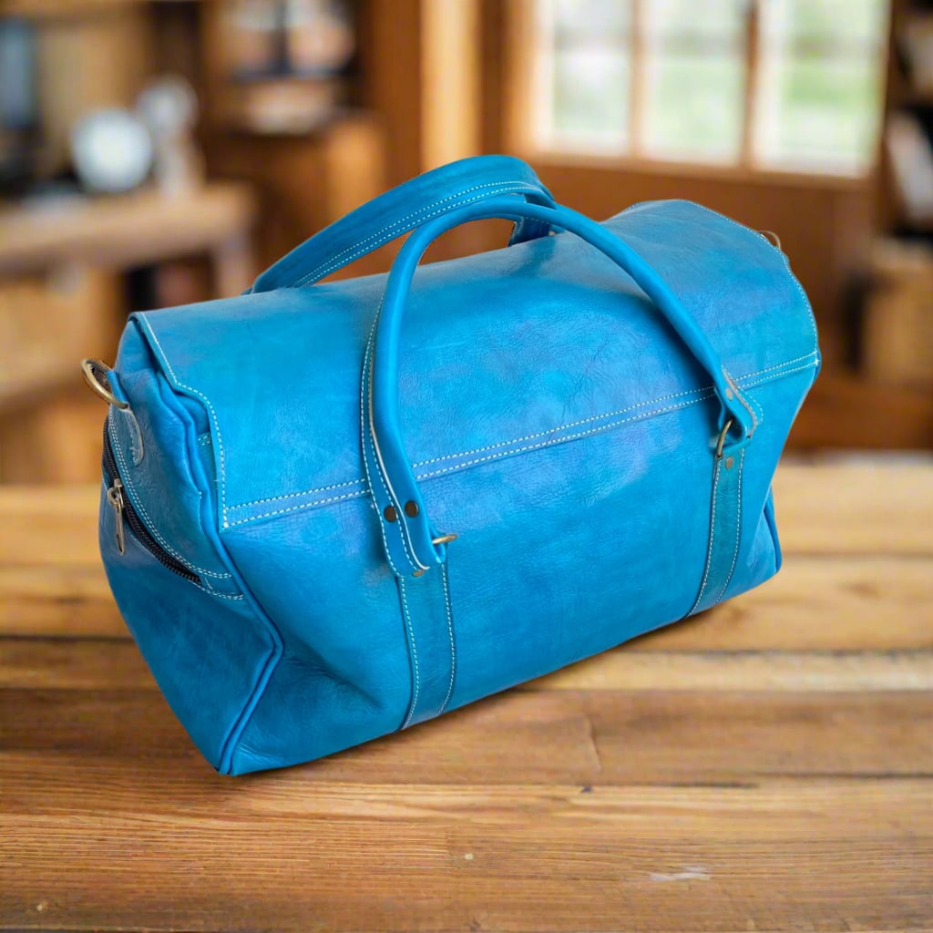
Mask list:
[[[734,162],[745,109],[743,0],[643,4],[641,151],[652,158]]]

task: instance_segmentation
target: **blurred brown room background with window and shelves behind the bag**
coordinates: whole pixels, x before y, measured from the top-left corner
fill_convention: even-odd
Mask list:
[[[928,449],[931,130],[922,0],[0,0],[0,482],[99,478],[77,361],[127,313],[235,295],[480,152],[597,218],[774,231],[825,354],[791,446]]]

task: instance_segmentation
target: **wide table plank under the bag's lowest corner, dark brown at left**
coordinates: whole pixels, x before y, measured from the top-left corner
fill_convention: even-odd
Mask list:
[[[0,782],[19,758],[63,775],[75,759],[111,762],[154,787],[212,775],[155,690],[0,690]],[[933,776],[933,695],[516,690],[296,773],[312,784],[580,786]]]

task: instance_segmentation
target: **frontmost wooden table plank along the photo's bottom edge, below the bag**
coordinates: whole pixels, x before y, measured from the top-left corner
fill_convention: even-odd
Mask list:
[[[0,816],[17,841],[0,867],[0,926],[919,930],[931,919],[929,782],[294,790],[254,783],[146,811],[117,791],[64,821],[48,808]]]

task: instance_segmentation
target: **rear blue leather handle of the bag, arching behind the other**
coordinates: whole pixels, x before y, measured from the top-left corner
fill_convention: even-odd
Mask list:
[[[504,194],[521,195],[528,202],[549,207],[554,205],[550,191],[521,159],[511,156],[461,159],[386,191],[315,233],[262,272],[250,291],[313,285],[433,217]],[[523,243],[549,232],[546,221],[520,217],[508,242]]]

